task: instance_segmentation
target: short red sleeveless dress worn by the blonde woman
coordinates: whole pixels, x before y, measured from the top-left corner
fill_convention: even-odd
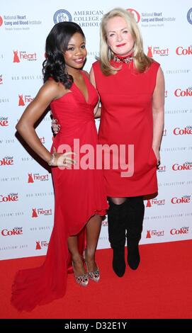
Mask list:
[[[114,61],[111,64],[119,66]],[[93,64],[96,89],[101,98],[98,142],[115,145],[118,152],[120,145],[127,145],[125,162],[128,164],[131,158],[133,161],[130,176],[122,176],[125,169],[120,158],[116,169],[112,167],[112,158],[108,169],[103,165],[106,192],[111,197],[143,196],[157,192],[157,158],[152,149],[152,94],[159,64],[152,62],[144,73],[136,72],[132,62],[120,65],[122,68],[117,74],[105,76],[100,62]],[[133,145],[133,154],[128,151],[128,145]]]

